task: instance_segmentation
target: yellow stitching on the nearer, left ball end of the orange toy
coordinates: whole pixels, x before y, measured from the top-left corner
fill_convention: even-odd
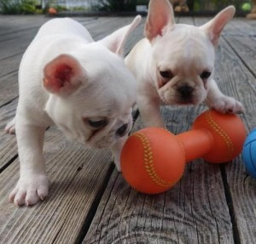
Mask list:
[[[135,133],[134,136],[137,137],[137,139],[140,139],[143,144],[143,162],[149,177],[154,181],[154,183],[159,184],[160,186],[171,186],[173,184],[173,181],[166,181],[164,179],[161,179],[160,176],[155,172],[153,152],[147,136],[141,132]]]

